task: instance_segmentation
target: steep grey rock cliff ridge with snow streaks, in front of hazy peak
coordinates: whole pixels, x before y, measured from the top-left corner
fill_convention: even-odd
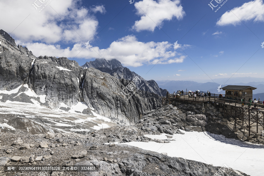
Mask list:
[[[95,68],[82,69],[65,57],[33,56],[27,48],[16,46],[13,38],[1,30],[0,101],[40,104],[68,111],[81,102],[80,113],[97,114],[126,124],[136,123],[144,111],[161,106],[157,94],[128,87],[126,79],[117,79]]]

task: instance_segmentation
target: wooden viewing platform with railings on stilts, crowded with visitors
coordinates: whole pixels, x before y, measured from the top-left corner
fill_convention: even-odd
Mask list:
[[[224,96],[225,95],[223,95],[223,97]],[[219,98],[219,94],[211,94],[211,97],[195,98],[192,96],[188,96],[187,92],[180,96],[168,94],[167,97],[162,98],[163,105],[171,104],[173,101],[202,103],[203,107],[204,103],[213,105],[215,108],[217,106],[219,111],[224,112],[223,121],[229,119],[229,121],[234,122],[234,132],[237,132],[238,126],[240,126],[241,129],[248,130],[248,140],[252,140],[252,137],[250,137],[251,132],[255,133],[255,137],[258,137],[260,135],[259,127],[262,130],[264,129],[264,105],[262,103],[256,104],[249,103],[248,100],[242,102],[238,100]],[[254,127],[255,130],[253,130],[252,127]]]

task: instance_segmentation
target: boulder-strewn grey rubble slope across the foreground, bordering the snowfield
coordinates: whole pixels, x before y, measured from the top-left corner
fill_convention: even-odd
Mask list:
[[[45,133],[31,135],[21,130],[1,133],[0,175],[214,175],[220,167],[214,167],[193,160],[169,157],[166,153],[156,153],[125,145],[129,141],[158,143],[170,142],[171,135],[185,131],[203,131],[206,115],[195,113],[197,126],[188,126],[185,120],[192,117],[179,107],[185,104],[167,105],[157,110],[145,112],[145,116],[135,126],[117,125],[86,135],[79,133]],[[190,109],[190,107],[189,107]],[[197,111],[202,110],[197,107]],[[191,115],[191,116],[190,116]],[[193,114],[194,115],[194,114]],[[198,119],[197,118],[197,119]],[[217,121],[218,119],[215,119]],[[190,121],[190,120],[189,120]],[[205,121],[205,122],[203,122]],[[190,121],[191,122],[191,121]],[[210,122],[209,122],[210,123]],[[215,122],[217,123],[217,122]],[[200,126],[199,126],[200,125]],[[167,140],[153,140],[144,134],[166,133]],[[120,142],[123,144],[113,144]],[[11,172],[3,166],[32,165],[94,165],[98,172]],[[230,168],[230,176],[246,174]]]

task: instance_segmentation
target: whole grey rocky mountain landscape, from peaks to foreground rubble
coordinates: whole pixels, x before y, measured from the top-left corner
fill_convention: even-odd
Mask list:
[[[184,131],[244,140],[246,131],[233,132],[233,122],[210,104],[162,106],[166,90],[116,60],[82,69],[65,57],[35,57],[0,34],[0,175],[212,176],[220,167],[125,143],[170,143]],[[133,83],[135,76],[140,80]],[[161,133],[167,139],[144,136]],[[263,144],[263,137],[252,142]],[[4,170],[15,165],[94,165],[98,172]],[[246,176],[232,169],[228,175]]]

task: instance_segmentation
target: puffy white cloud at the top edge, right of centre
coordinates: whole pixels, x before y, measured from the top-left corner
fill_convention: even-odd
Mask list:
[[[180,0],[142,0],[135,2],[135,8],[137,15],[141,16],[132,27],[137,32],[154,31],[163,25],[164,20],[170,21],[173,17],[180,20],[185,16]]]

